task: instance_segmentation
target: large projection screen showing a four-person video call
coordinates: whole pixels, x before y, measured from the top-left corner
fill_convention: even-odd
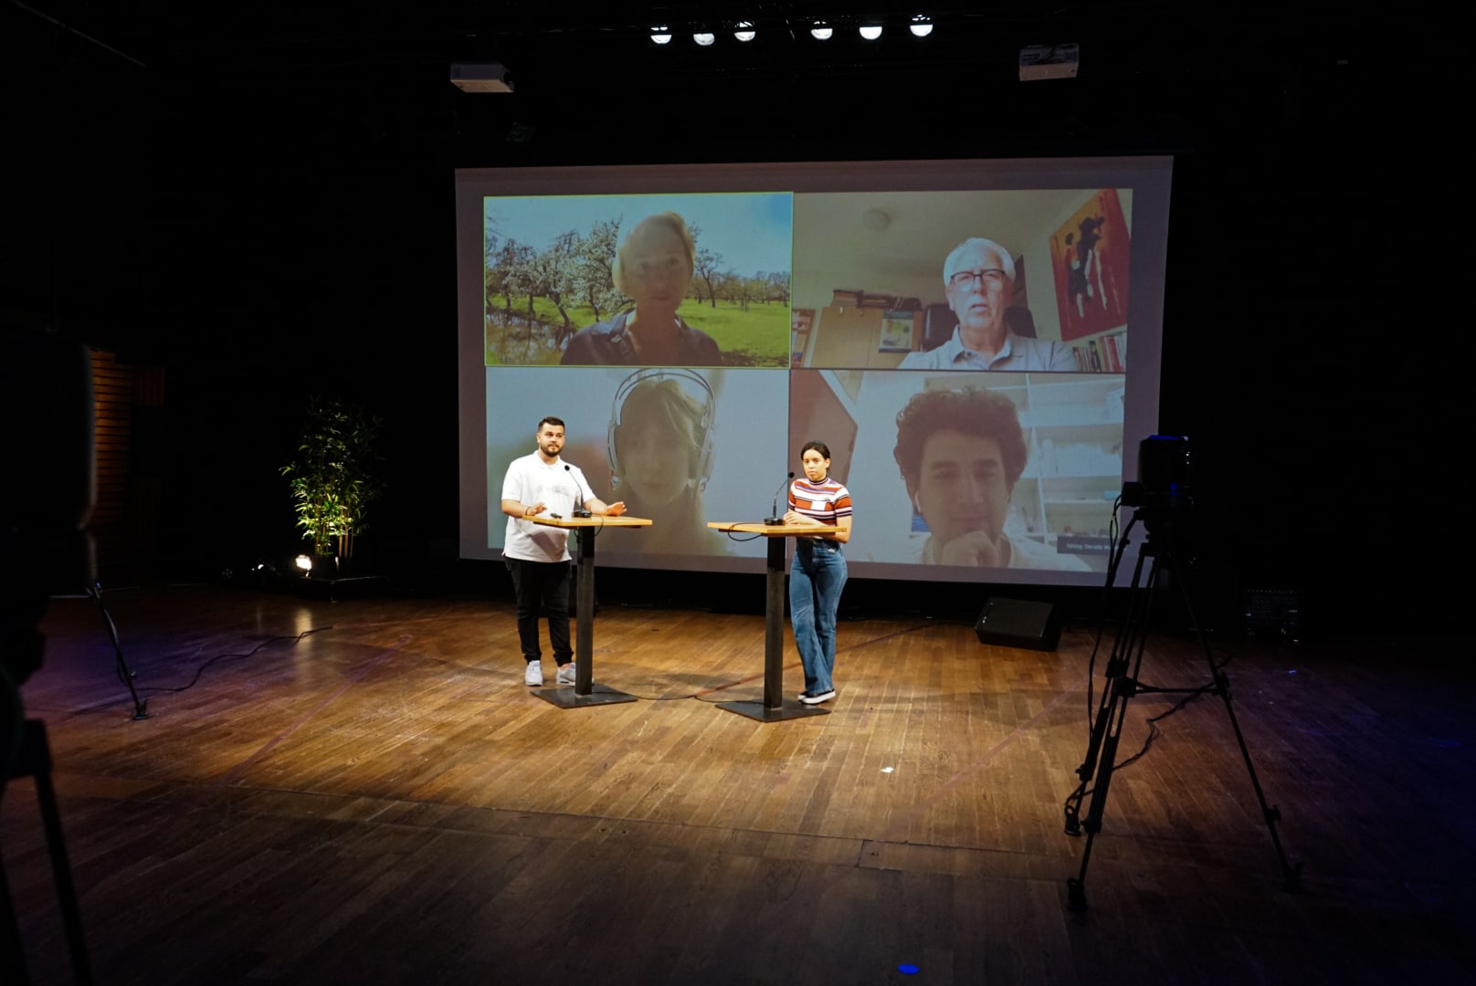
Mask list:
[[[762,571],[762,540],[706,523],[782,512],[785,474],[819,438],[856,505],[853,576],[1100,585],[1113,500],[1157,422],[1170,173],[1169,158],[458,171],[461,555],[500,558],[503,472],[556,415],[596,496],[655,521],[602,533],[602,565]],[[590,356],[583,339],[618,341],[652,291],[639,277],[686,260],[673,227],[695,249],[675,319],[701,359]],[[1014,267],[989,304],[945,286],[974,238]],[[952,272],[967,280],[979,257]],[[1029,365],[953,369],[968,306],[999,308]]]

